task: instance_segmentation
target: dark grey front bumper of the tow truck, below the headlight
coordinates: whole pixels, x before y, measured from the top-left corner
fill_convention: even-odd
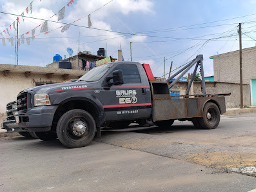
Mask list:
[[[39,106],[26,113],[19,114],[19,123],[15,120],[3,122],[3,129],[11,131],[50,131],[57,106]]]

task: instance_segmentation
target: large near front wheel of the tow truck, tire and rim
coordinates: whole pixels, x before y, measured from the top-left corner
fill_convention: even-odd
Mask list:
[[[80,127],[79,127],[80,126]],[[94,139],[96,124],[94,117],[84,110],[70,110],[57,123],[57,136],[68,148],[81,148]]]

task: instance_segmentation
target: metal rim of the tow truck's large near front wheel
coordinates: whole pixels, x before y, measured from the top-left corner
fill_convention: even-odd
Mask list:
[[[88,124],[83,117],[75,117],[68,123],[68,136],[72,139],[84,139],[88,136]]]

